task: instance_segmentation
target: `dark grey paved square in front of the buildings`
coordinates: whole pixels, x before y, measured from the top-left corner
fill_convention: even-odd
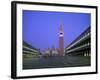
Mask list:
[[[64,57],[53,56],[48,58],[41,57],[41,58],[23,59],[23,69],[78,67],[78,66],[90,66],[90,57],[67,55]]]

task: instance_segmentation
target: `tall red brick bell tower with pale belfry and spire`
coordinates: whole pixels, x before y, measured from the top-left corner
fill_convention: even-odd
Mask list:
[[[62,24],[60,24],[59,30],[59,54],[60,56],[64,56],[64,32]]]

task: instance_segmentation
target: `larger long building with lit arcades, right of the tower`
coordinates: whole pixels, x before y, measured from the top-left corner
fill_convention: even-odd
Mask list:
[[[65,53],[71,55],[91,56],[91,28],[88,27],[68,47]]]

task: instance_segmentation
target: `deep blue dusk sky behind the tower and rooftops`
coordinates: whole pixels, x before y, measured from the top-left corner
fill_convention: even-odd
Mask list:
[[[88,13],[23,10],[23,41],[42,50],[59,43],[59,27],[64,30],[64,47],[76,39],[91,22]]]

